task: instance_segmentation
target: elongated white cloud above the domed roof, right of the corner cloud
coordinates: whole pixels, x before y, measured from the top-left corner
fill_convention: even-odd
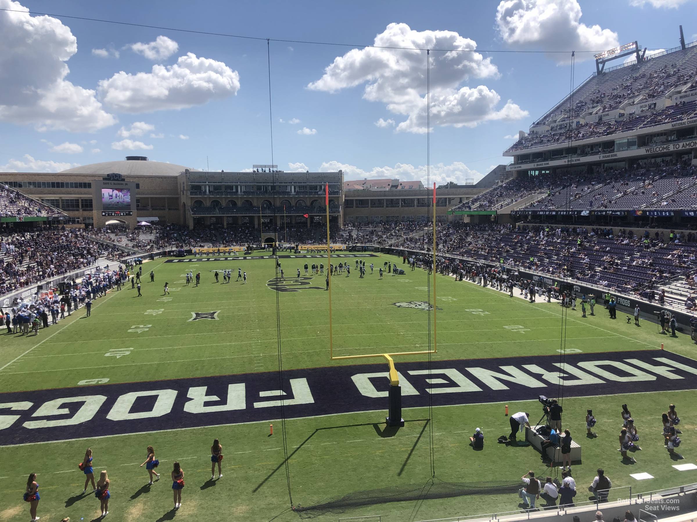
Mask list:
[[[237,71],[222,62],[188,53],[174,65],[153,65],[152,72],[117,72],[99,82],[98,92],[115,110],[146,113],[222,100],[236,95],[239,88]]]

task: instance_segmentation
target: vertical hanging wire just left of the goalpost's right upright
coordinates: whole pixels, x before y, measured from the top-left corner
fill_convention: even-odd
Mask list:
[[[426,184],[431,188],[431,51],[426,50]],[[429,263],[434,276],[434,344],[436,340],[436,189],[434,187],[434,197],[431,203],[433,209],[433,256]],[[429,292],[429,309],[431,308],[431,278],[426,275],[427,289]],[[428,313],[429,326],[429,461],[431,463],[431,478],[436,476],[436,445],[434,441],[434,394],[433,379],[431,379],[431,311]]]

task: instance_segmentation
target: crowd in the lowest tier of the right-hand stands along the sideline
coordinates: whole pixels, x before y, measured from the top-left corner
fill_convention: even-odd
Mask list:
[[[672,276],[697,269],[693,232],[665,237],[649,230],[553,228],[451,223],[436,229],[436,251],[569,277],[618,292],[654,289]],[[431,235],[411,236],[403,248],[429,251]],[[654,296],[658,297],[659,292]]]

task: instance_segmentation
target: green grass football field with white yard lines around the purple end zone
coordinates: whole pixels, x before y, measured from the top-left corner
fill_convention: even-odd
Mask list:
[[[617,352],[625,351],[652,351],[652,356],[659,358],[661,353],[694,358],[694,343],[689,335],[659,335],[655,324],[642,321],[642,326],[636,327],[627,324],[622,313],[611,321],[602,306],[596,307],[592,317],[581,317],[580,308],[565,315],[557,303],[545,303],[542,299],[528,303],[520,299],[517,289],[511,298],[505,292],[445,276],[436,276],[434,302],[432,294],[429,299],[428,290],[433,279],[430,276],[429,282],[426,272],[406,269],[402,276],[385,274],[378,280],[378,267],[385,260],[394,260],[399,267],[406,265],[401,264],[401,258],[385,255],[361,259],[368,267],[371,262],[375,264],[373,274],[368,268],[365,278],[359,278],[355,259],[348,258],[351,275],[332,277],[335,356],[429,349],[434,344],[434,314],[408,303],[430,301],[436,306],[438,352],[431,357],[434,366],[485,359],[496,364],[498,358],[505,358],[500,367],[514,372],[514,358],[526,358],[524,364],[528,366],[537,363],[537,358],[549,363],[560,360],[561,348],[566,350],[566,363],[573,363],[574,357],[585,357],[584,354],[600,354],[597,358],[602,358],[606,353],[608,358],[620,360],[624,356]],[[339,260],[342,259],[334,259]],[[411,407],[412,396],[404,395],[405,426],[390,432],[385,430],[384,422],[386,398],[379,399],[379,404],[384,402],[382,409],[364,409],[351,404],[348,396],[342,397],[344,392],[333,386],[330,377],[327,382],[321,381],[323,373],[333,376],[335,373],[331,372],[348,372],[350,376],[360,372],[360,367],[355,367],[365,364],[371,365],[366,372],[386,373],[387,365],[380,358],[330,361],[329,292],[325,291],[325,276],[305,276],[302,266],[306,261],[327,264],[325,259],[282,258],[286,282],[276,288],[274,261],[270,259],[158,259],[143,265],[141,297],[129,284],[120,292],[112,291],[97,299],[91,317],[85,317],[82,308],[58,325],[41,330],[38,336],[0,336],[3,408],[10,407],[8,403],[17,404],[17,397],[29,402],[37,397],[36,404],[45,400],[41,397],[63,397],[63,388],[68,394],[65,397],[74,397],[80,393],[99,395],[103,393],[100,390],[112,385],[116,387],[108,389],[121,390],[118,386],[123,386],[123,390],[130,391],[146,386],[148,390],[157,390],[158,381],[206,386],[206,379],[192,378],[239,375],[247,379],[249,397],[255,376],[266,379],[278,371],[280,349],[284,372],[293,376],[295,371],[312,371],[316,381],[322,383],[321,395],[316,388],[312,390],[316,406],[328,404],[326,407],[331,408],[334,400],[342,404],[337,411],[318,410],[316,415],[294,416],[296,410],[286,409],[287,463],[282,424],[273,415],[263,420],[228,422],[221,414],[220,420],[208,416],[204,425],[188,425],[189,417],[178,419],[175,412],[162,418],[140,419],[134,428],[127,420],[121,420],[117,424],[123,434],[109,432],[107,424],[102,432],[95,417],[62,426],[55,434],[51,426],[34,430],[45,436],[38,440],[31,430],[20,430],[20,424],[28,418],[17,422],[3,420],[15,415],[3,410],[1,413],[7,416],[0,416],[0,436],[3,432],[10,434],[11,441],[0,448],[0,520],[29,517],[29,506],[22,501],[22,493],[30,472],[38,473],[42,496],[38,514],[42,520],[60,521],[65,516],[70,516],[71,521],[96,519],[100,514],[98,500],[91,494],[82,495],[84,475],[77,469],[87,447],[94,452],[95,475],[99,470],[108,470],[112,498],[107,518],[115,521],[337,521],[365,515],[381,515],[386,521],[421,521],[519,509],[515,494],[486,494],[485,486],[507,487],[518,482],[528,469],[542,477],[555,476],[555,470],[544,464],[533,448],[498,445],[496,438],[510,431],[504,404],[510,405],[511,413],[529,411],[531,420],[536,421],[542,414],[540,404],[529,399],[543,394],[556,397],[556,384],[538,388],[539,393],[532,390],[532,395],[516,395],[517,388],[508,390],[502,385],[505,390],[485,390],[486,400],[473,400],[470,404],[438,404],[449,394],[434,393],[432,409],[421,407],[424,403],[413,403],[419,407]],[[236,281],[238,268],[247,272],[247,283]],[[296,278],[298,268],[302,271],[300,279]],[[185,272],[189,269],[194,274],[201,273],[200,285],[185,285]],[[223,283],[222,274],[220,282],[215,282],[215,271],[223,269],[232,270],[231,283]],[[154,283],[148,277],[151,270],[155,272]],[[169,295],[163,295],[165,282],[169,283]],[[656,351],[661,342],[665,343],[664,352]],[[415,376],[421,379],[418,382],[424,381],[421,376],[425,370],[408,373],[406,369],[426,367],[425,361],[424,355],[395,357],[397,370],[415,387],[420,386]],[[375,365],[378,370],[374,370]],[[485,363],[480,365],[484,367]],[[481,376],[485,370],[475,368],[480,373],[472,372],[468,377]],[[480,381],[491,382],[491,372],[487,375],[488,380]],[[537,378],[542,381],[540,375]],[[598,386],[597,392],[579,394],[585,397],[569,393],[563,401],[564,425],[583,448],[581,463],[574,465],[579,487],[576,502],[588,500],[590,493],[585,489],[599,466],[611,477],[613,487],[631,486],[634,492],[697,482],[697,470],[673,468],[675,464],[694,462],[697,457],[693,387],[681,385],[671,390],[668,385],[678,382],[673,377],[650,383],[654,386],[651,389],[645,388],[648,385],[641,379],[603,380],[606,388]],[[79,384],[83,381],[87,383]],[[484,388],[480,381],[477,383]],[[661,390],[663,382],[667,383],[665,390]],[[498,393],[508,392],[512,395],[501,395],[503,399],[498,400]],[[261,392],[256,397],[270,400],[279,393]],[[419,397],[422,395],[426,394],[420,393]],[[327,398],[321,400],[322,397]],[[623,403],[629,404],[641,434],[639,445],[643,449],[634,453],[636,464],[623,462],[617,451]],[[684,459],[680,462],[671,459],[662,443],[660,417],[670,403],[676,404],[683,421],[680,453]],[[593,409],[598,420],[597,438],[585,437],[588,408]],[[33,417],[38,420],[41,413]],[[272,423],[275,432],[270,436]],[[481,427],[486,436],[487,444],[481,452],[468,445],[468,436],[475,427]],[[213,438],[220,438],[225,455],[224,476],[217,480],[210,480],[209,448]],[[145,468],[139,468],[148,445],[155,447],[162,463],[162,479],[153,486],[146,485],[148,474]],[[169,480],[175,460],[181,462],[186,482],[182,507],[176,511],[172,509]],[[644,472],[654,478],[638,481],[629,476]],[[475,491],[482,486],[485,494],[455,493]],[[450,494],[435,493],[448,490]],[[429,491],[433,493],[430,496]],[[618,496],[628,492],[629,489],[618,490]],[[290,509],[291,497],[293,505],[302,509]]]

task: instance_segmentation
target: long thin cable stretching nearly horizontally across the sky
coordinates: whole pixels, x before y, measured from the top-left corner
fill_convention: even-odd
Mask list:
[[[372,44],[349,44],[341,42],[316,42],[313,40],[290,40],[284,38],[264,38],[263,36],[249,36],[249,35],[238,35],[230,33],[214,33],[212,31],[197,31],[195,29],[181,29],[178,27],[167,27],[167,26],[157,26],[152,24],[136,24],[135,22],[119,22],[117,20],[108,20],[104,18],[90,18],[84,16],[74,16],[74,15],[58,15],[56,13],[40,13],[38,11],[27,11],[22,9],[8,9],[0,8],[0,11],[7,11],[8,13],[23,13],[26,15],[38,15],[38,16],[52,16],[56,18],[70,18],[73,20],[82,20],[84,22],[100,22],[102,24],[117,24],[132,27],[142,27],[144,29],[160,29],[162,31],[176,31],[178,33],[192,33],[210,36],[223,36],[225,38],[240,38],[241,40],[266,40],[271,42],[280,43],[295,43],[295,44],[309,44],[309,45],[331,45],[338,47],[372,47],[373,49],[399,49],[403,51],[428,51],[429,49],[424,49],[421,47],[399,47],[397,45],[372,45]],[[443,51],[443,52],[463,52],[463,53],[521,53],[521,54],[568,54],[569,51],[543,51],[538,49],[532,50],[521,50],[521,49],[430,49],[431,51]],[[657,51],[656,49],[647,49],[648,51]],[[576,51],[577,53],[594,53],[604,52],[601,51]]]

